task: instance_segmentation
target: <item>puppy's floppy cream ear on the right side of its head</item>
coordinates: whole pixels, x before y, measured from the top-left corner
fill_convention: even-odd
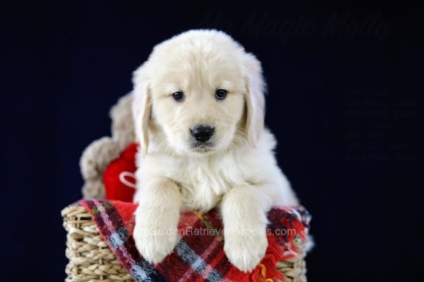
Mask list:
[[[256,147],[264,130],[265,121],[265,81],[262,77],[261,63],[252,54],[245,56],[245,84],[247,119],[246,130],[249,144]]]

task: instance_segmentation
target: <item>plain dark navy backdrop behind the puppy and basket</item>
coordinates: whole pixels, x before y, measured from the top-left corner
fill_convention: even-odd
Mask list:
[[[423,10],[199,5],[1,4],[1,279],[64,279],[81,152],[155,44],[214,27],[263,63],[278,163],[314,216],[310,281],[423,281]]]

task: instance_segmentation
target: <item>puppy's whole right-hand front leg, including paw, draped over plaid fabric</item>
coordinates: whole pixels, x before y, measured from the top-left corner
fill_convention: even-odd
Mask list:
[[[251,271],[265,255],[266,212],[271,199],[261,187],[244,185],[232,188],[220,203],[224,223],[224,251],[232,264]]]

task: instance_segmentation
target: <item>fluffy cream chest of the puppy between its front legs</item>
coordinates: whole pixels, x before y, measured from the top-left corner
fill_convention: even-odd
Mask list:
[[[208,211],[235,185],[222,168],[207,164],[186,164],[175,177],[185,209]]]

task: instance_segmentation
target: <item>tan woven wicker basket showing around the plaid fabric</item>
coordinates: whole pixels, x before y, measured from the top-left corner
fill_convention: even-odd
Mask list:
[[[84,207],[71,204],[61,211],[66,235],[66,282],[134,281],[126,272]],[[305,242],[295,238],[298,257],[277,262],[277,268],[285,281],[306,282]]]

